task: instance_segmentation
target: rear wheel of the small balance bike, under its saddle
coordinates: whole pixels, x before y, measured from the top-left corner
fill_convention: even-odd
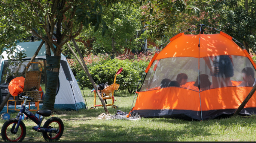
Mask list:
[[[46,141],[57,141],[61,138],[63,131],[64,131],[64,124],[58,117],[52,117],[49,118],[45,124],[43,125],[43,128],[56,128],[59,130],[58,133],[45,133],[43,132],[43,138],[45,138]]]

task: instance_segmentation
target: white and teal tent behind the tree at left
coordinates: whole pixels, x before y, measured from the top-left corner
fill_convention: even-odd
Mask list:
[[[37,42],[23,42],[23,43],[18,43],[16,52],[24,51],[27,55],[25,58],[26,60],[29,60],[33,57],[34,53],[36,52],[37,48],[39,47],[41,41]],[[45,44],[43,44],[41,50],[39,51],[38,55],[36,58],[39,59],[46,59],[45,56]],[[51,51],[51,54],[53,56],[53,53]],[[3,63],[4,61],[7,61],[7,54],[4,51],[1,55],[4,56],[4,59],[0,56],[0,69],[1,73],[3,72]],[[67,59],[63,54],[61,54],[61,60],[67,62]],[[67,80],[65,76],[65,72],[63,67],[60,67],[60,74],[59,74],[59,89],[56,95],[55,99],[55,108],[58,109],[67,109],[67,110],[77,110],[77,109],[83,109],[85,108],[85,101],[83,99],[82,93],[80,91],[80,88],[77,84],[76,78],[74,77],[73,72],[70,69],[69,64],[67,63],[68,70],[70,72],[72,80],[69,81]],[[71,88],[72,86],[72,88]],[[3,111],[4,112],[4,111]],[[6,111],[5,111],[6,112]]]

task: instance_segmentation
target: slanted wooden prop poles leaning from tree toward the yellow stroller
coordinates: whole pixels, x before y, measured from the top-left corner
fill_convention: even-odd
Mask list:
[[[85,61],[83,60],[83,56],[82,56],[82,54],[81,54],[79,48],[77,47],[77,44],[76,44],[76,41],[74,40],[74,38],[72,38],[72,41],[73,41],[73,43],[74,43],[74,46],[76,47],[76,51],[77,51],[77,53],[79,54],[79,57],[80,57],[80,60],[82,61],[82,63],[79,61],[79,59],[78,59],[78,57],[76,56],[76,54],[74,53],[73,49],[72,49],[72,48],[70,47],[70,45],[67,43],[68,48],[69,48],[70,51],[73,53],[73,55],[76,57],[76,60],[77,60],[77,61],[79,62],[79,64],[81,65],[81,67],[82,67],[82,69],[85,71],[86,75],[89,77],[89,79],[90,79],[90,81],[91,81],[91,83],[92,83],[93,88],[95,89],[95,91],[96,91],[98,97],[100,98],[100,101],[101,101],[101,104],[103,105],[104,110],[106,111],[107,114],[109,114],[109,111],[108,111],[108,109],[107,109],[107,106],[106,106],[106,104],[105,104],[103,98],[101,97],[100,92],[98,91],[98,88],[97,88],[97,86],[96,86],[94,80],[92,79],[92,76],[91,76],[91,74],[90,74],[90,72],[89,72],[89,70],[88,70],[88,68],[87,68],[87,66],[86,66],[86,64],[85,64]]]

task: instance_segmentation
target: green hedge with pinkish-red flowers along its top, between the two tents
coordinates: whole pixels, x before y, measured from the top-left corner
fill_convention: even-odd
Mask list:
[[[118,75],[116,83],[121,85],[119,89],[127,89],[132,93],[135,92],[138,82],[153,55],[153,52],[121,54],[110,60],[110,55],[99,54],[84,57],[84,60],[97,85],[106,82],[111,85],[114,82],[116,71],[123,67],[123,71]],[[75,59],[68,59],[68,63],[75,76],[77,75],[79,86],[92,89],[92,84],[79,63]]]

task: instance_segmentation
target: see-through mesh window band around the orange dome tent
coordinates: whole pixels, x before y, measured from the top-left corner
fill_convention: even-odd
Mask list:
[[[214,66],[214,57],[204,57],[198,58],[194,57],[171,57],[171,58],[163,58],[160,60],[155,60],[150,67],[147,76],[143,82],[143,85],[140,91],[147,91],[147,90],[155,90],[161,89],[166,87],[172,87],[174,85],[170,84],[171,81],[176,81],[177,76],[180,73],[185,73],[188,76],[187,82],[184,85],[180,85],[179,88],[186,88],[195,91],[199,91],[198,89],[198,66],[199,69],[199,85],[201,90],[208,90],[213,88],[213,81],[212,76],[214,76],[210,68],[207,66],[205,59],[208,58],[210,61],[211,66]],[[218,80],[219,87],[227,87],[227,86],[247,86],[243,85],[243,73],[242,70],[246,69],[254,69],[252,63],[250,62],[249,58],[238,56],[238,55],[226,55],[232,59],[232,62],[228,66],[232,66],[234,71],[230,71],[230,73],[219,73],[222,77],[227,77],[228,74],[233,74],[230,77],[228,85],[223,84],[223,81]],[[226,62],[226,61],[222,61]],[[248,68],[249,67],[249,68]],[[218,67],[219,68],[219,67]],[[221,67],[220,67],[221,68]],[[223,67],[225,68],[225,67]],[[221,71],[223,69],[219,69]],[[256,76],[255,70],[252,72]],[[165,82],[164,82],[165,81]],[[166,83],[166,81],[168,83]],[[163,86],[163,84],[165,86]]]

